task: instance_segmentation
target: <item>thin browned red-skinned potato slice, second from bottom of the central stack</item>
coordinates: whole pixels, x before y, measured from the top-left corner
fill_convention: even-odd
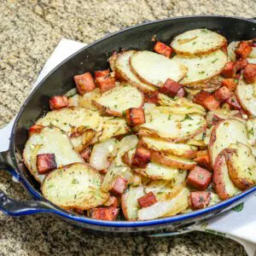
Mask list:
[[[196,166],[194,160],[183,159],[172,154],[151,151],[150,160],[163,166],[170,166],[181,170],[192,170]]]

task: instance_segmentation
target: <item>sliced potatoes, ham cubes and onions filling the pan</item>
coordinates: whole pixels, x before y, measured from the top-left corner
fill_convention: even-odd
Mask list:
[[[256,183],[256,39],[195,29],[114,52],[49,99],[23,152],[42,194],[90,218],[212,206]]]

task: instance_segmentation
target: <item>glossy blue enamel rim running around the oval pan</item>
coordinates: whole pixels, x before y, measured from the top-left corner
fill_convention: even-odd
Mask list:
[[[182,16],[182,17],[174,17],[174,18],[170,18],[170,19],[164,19],[164,20],[156,20],[156,21],[150,21],[147,23],[143,23],[141,25],[137,25],[137,26],[148,26],[150,24],[153,23],[160,23],[162,21],[166,21],[166,20],[177,20],[177,19],[193,19],[195,17],[199,17],[199,18],[213,18],[213,17],[220,17],[220,18],[229,18],[229,19],[234,19],[234,20],[247,20],[249,22],[254,22],[256,23],[255,20],[250,20],[250,19],[243,19],[243,18],[237,18],[237,17],[233,17],[233,16],[220,16],[220,15],[199,15],[199,16]],[[74,53],[73,55],[69,56],[66,60],[62,61],[61,64],[59,64],[57,67],[55,67],[39,84],[38,86],[32,91],[32,93],[30,94],[30,96],[28,96],[28,98],[26,99],[26,102],[24,102],[22,108],[20,108],[20,112],[17,115],[17,118],[15,119],[15,124],[13,126],[12,129],[12,133],[11,133],[11,139],[10,139],[10,153],[12,156],[12,160],[15,163],[15,167],[17,170],[19,170],[16,158],[15,158],[15,146],[14,146],[14,140],[15,140],[15,130],[16,130],[16,126],[17,126],[17,122],[20,119],[20,115],[23,112],[26,103],[30,101],[30,99],[33,96],[33,92],[36,91],[38,89],[38,87],[41,86],[41,84],[44,84],[44,81],[46,79],[48,79],[48,77],[52,74],[55,73],[55,71],[61,67],[67,60],[72,59],[74,55],[79,54],[79,52],[83,51],[84,49],[90,48],[92,45],[98,44],[99,42],[101,42],[102,40],[105,40],[106,38],[110,38],[113,37],[116,34],[131,30],[137,26],[131,26],[129,28],[126,28],[124,30],[121,30],[119,32],[115,32],[113,34],[110,34],[104,38],[101,38],[99,40],[96,40],[95,42],[86,45],[84,48],[79,49],[79,51],[77,51],[76,53]],[[185,214],[180,214],[174,217],[170,217],[170,218],[160,218],[160,219],[154,219],[154,220],[148,220],[148,221],[136,221],[136,222],[128,222],[128,221],[102,221],[102,220],[96,220],[93,218],[85,218],[85,217],[80,217],[79,215],[76,214],[72,214],[70,212],[67,212],[66,210],[61,209],[60,207],[56,207],[55,205],[53,205],[50,201],[47,201],[46,199],[44,199],[44,197],[38,193],[38,190],[34,189],[32,187],[32,185],[30,183],[28,183],[28,181],[26,180],[26,177],[24,177],[23,173],[20,175],[20,173],[16,172],[13,169],[9,169],[8,170],[18,181],[20,181],[20,183],[22,183],[26,189],[28,190],[28,192],[38,201],[43,201],[46,203],[46,205],[49,207],[49,209],[45,209],[44,207],[42,207],[42,209],[34,209],[34,210],[28,210],[28,211],[23,211],[20,213],[16,213],[14,216],[20,216],[20,215],[24,215],[24,214],[32,214],[32,213],[39,213],[39,212],[45,212],[45,213],[54,213],[56,215],[59,215],[63,218],[67,218],[70,220],[73,220],[75,222],[78,223],[84,223],[84,224],[92,224],[92,225],[98,225],[98,226],[108,226],[108,227],[115,227],[115,228],[121,228],[121,227],[141,227],[141,226],[151,226],[151,225],[160,225],[160,224],[171,224],[171,223],[175,223],[175,222],[180,222],[189,218],[198,218],[198,217],[203,217],[203,215],[206,215],[207,213],[210,212],[217,212],[217,211],[221,211],[224,208],[230,207],[232,204],[235,204],[238,201],[241,201],[242,199],[244,199],[245,197],[247,197],[248,195],[253,195],[254,192],[256,192],[256,186],[254,186],[251,189],[248,189],[247,191],[236,195],[232,198],[230,198],[229,200],[226,201],[222,201],[212,207],[207,207],[204,208],[202,210],[199,211],[194,211],[194,212],[189,212],[189,213],[185,213]],[[235,207],[235,205],[234,205]],[[9,212],[6,212],[9,213]]]

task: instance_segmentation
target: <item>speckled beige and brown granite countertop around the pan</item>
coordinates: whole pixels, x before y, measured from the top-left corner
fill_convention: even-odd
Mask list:
[[[90,43],[126,26],[177,15],[256,16],[252,0],[0,1],[0,127],[15,116],[61,38]],[[0,142],[1,143],[1,142]],[[25,200],[1,172],[0,189]],[[0,213],[0,255],[246,255],[228,238],[193,232],[166,238],[92,236],[43,215]]]

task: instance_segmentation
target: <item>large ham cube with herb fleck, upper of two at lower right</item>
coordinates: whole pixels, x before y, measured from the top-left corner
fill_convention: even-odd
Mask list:
[[[211,172],[208,172],[206,169],[199,166],[195,166],[195,168],[189,172],[187,184],[195,189],[205,190],[211,182],[211,179]]]

